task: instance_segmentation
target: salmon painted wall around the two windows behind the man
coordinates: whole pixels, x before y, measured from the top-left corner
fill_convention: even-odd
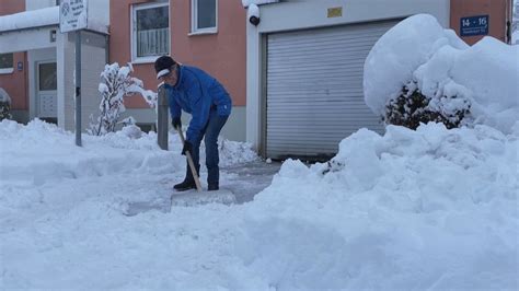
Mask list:
[[[111,0],[109,61],[125,65],[131,60],[130,14],[132,3],[147,0]],[[171,55],[185,65],[196,66],[217,78],[229,91],[233,104],[245,105],[246,11],[241,0],[218,0],[218,33],[192,35],[191,0],[170,1]],[[134,63],[134,75],[146,89],[157,90],[153,63]],[[148,107],[140,96],[125,102],[129,108]]]

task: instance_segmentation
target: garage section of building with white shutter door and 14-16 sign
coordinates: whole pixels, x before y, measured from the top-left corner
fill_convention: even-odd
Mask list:
[[[247,1],[254,2],[254,1]],[[509,42],[510,0],[258,1],[249,10],[246,140],[274,159],[323,160],[360,128],[383,132],[364,102],[364,62],[403,19],[428,13],[469,44]]]

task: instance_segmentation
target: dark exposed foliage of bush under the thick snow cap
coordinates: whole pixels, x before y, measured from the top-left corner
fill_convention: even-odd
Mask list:
[[[402,89],[396,98],[385,106],[384,121],[391,125],[416,129],[420,124],[441,123],[455,128],[466,121],[471,103],[458,96],[428,97],[418,90],[415,82]]]

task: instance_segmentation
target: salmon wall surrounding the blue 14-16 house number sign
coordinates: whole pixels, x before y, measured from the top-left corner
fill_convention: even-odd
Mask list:
[[[488,15],[488,35],[506,42],[507,13],[511,0],[450,0],[450,26],[460,35],[460,19]],[[484,35],[462,37],[469,45],[475,44]]]

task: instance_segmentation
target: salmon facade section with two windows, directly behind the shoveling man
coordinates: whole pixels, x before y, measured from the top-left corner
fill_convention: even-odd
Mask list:
[[[157,91],[153,69],[161,55],[196,66],[229,91],[233,110],[222,130],[232,140],[245,139],[245,16],[240,0],[112,0],[109,62],[131,63],[134,77]],[[126,114],[146,127],[157,115],[140,95],[125,101]],[[183,115],[184,124],[189,116]]]

